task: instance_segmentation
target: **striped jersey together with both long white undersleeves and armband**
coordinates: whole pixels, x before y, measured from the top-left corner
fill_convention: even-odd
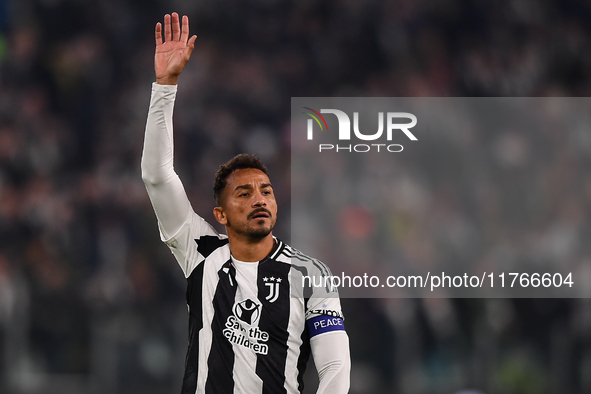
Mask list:
[[[347,393],[349,338],[338,294],[300,286],[303,276],[330,272],[279,240],[258,263],[232,258],[228,238],[193,211],[174,171],[176,91],[176,85],[152,85],[141,167],[161,238],[188,281],[182,393],[300,393],[310,353],[317,394]]]

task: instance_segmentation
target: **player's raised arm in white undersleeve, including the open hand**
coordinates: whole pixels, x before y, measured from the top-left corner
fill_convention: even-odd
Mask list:
[[[165,239],[175,235],[189,213],[191,205],[185,189],[173,167],[172,111],[176,96],[176,83],[191,57],[196,36],[189,37],[189,19],[183,17],[182,31],[176,13],[164,17],[156,25],[156,53],[154,70],[156,83],[146,124],[142,154],[142,179],[156,212],[160,230]]]

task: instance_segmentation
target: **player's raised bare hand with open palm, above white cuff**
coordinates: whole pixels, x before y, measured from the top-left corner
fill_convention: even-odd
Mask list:
[[[171,21],[172,19],[172,21]],[[156,83],[161,85],[176,85],[179,75],[191,58],[197,36],[189,39],[189,18],[183,16],[181,31],[179,15],[172,13],[164,16],[164,39],[162,40],[162,24],[156,24],[156,54],[154,55],[154,70]]]

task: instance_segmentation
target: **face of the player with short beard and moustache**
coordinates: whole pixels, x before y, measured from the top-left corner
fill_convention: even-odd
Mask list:
[[[226,226],[228,235],[246,235],[251,240],[266,237],[275,227],[277,202],[273,186],[264,172],[245,168],[226,179],[221,206],[214,209],[218,222]]]

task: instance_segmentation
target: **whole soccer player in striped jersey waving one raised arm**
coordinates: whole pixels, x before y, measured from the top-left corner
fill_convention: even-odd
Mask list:
[[[332,289],[299,288],[324,264],[273,236],[277,204],[269,173],[238,155],[215,177],[218,234],[189,203],[173,169],[172,112],[178,77],[196,36],[176,13],[156,25],[155,71],[142,155],[142,178],[160,236],[188,282],[189,348],[182,393],[301,393],[310,352],[317,393],[349,389],[349,339]],[[299,289],[299,290],[298,290]]]

